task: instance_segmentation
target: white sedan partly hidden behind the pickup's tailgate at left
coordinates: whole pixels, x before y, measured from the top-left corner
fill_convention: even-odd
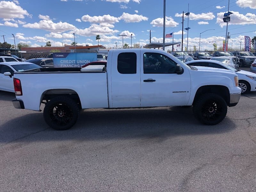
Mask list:
[[[0,90],[14,92],[13,73],[29,69],[41,68],[40,66],[29,62],[1,62],[0,63]]]

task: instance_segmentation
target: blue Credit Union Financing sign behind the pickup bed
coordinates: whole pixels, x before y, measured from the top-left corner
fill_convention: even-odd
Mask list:
[[[92,61],[97,61],[97,53],[53,53],[56,68],[82,67]]]

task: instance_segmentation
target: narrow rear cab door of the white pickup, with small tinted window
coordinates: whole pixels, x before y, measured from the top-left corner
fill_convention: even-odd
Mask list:
[[[140,50],[115,50],[111,58],[107,64],[107,68],[111,65],[109,107],[140,107]]]

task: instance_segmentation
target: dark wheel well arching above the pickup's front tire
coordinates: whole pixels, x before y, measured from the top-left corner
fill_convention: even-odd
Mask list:
[[[222,85],[206,85],[199,87],[199,89],[196,91],[196,95],[193,101],[193,104],[195,100],[200,97],[204,93],[215,93],[220,95],[227,104],[230,102],[230,95],[229,95],[229,90],[227,87],[222,86]]]

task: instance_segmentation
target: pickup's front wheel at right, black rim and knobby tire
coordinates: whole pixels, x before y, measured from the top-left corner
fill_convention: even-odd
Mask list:
[[[193,113],[197,120],[206,125],[220,123],[227,115],[227,103],[218,94],[205,93],[195,101]]]

